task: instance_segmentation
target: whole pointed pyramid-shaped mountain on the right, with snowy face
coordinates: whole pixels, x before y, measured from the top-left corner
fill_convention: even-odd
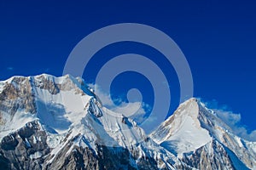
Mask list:
[[[207,109],[198,99],[189,99],[180,105],[150,137],[189,165],[194,162],[197,168],[206,168],[204,163],[207,160],[209,163],[218,162],[227,169],[256,166],[255,143],[236,136],[214,111]]]

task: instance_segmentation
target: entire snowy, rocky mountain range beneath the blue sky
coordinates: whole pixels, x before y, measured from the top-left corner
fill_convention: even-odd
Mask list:
[[[192,108],[186,106],[189,102],[193,103]],[[186,120],[200,127],[194,135],[185,132],[184,125],[188,123],[172,126],[174,122],[179,125],[178,122],[183,122],[183,118],[174,118],[182,107],[185,109],[180,115],[192,111],[191,119]],[[242,140],[246,147],[241,147],[230,131],[225,131],[225,137],[209,133],[212,126],[207,125],[212,123],[212,118],[206,115],[215,117],[198,101],[190,99],[148,137],[130,118],[102,107],[80,78],[45,74],[12,77],[0,82],[0,166],[11,169],[253,168],[255,144]],[[216,122],[228,129],[221,120]],[[177,137],[176,131],[180,129],[190,135],[190,140],[194,139],[188,150],[173,149],[173,136]],[[196,142],[201,133],[204,140]],[[229,145],[230,142],[234,144]],[[244,152],[245,158],[239,156]],[[209,156],[215,163],[209,162]]]

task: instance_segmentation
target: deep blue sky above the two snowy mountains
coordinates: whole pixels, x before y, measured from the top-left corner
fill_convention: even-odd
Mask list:
[[[0,0],[0,80],[43,72],[61,76],[68,54],[83,37],[103,26],[123,22],[142,23],[166,32],[189,61],[195,97],[228,105],[230,110],[241,113],[243,124],[256,129],[253,1]],[[116,44],[102,49],[98,59],[111,53],[142,53],[147,48],[140,44],[123,45],[126,48]],[[172,77],[172,69],[170,72]],[[143,78],[139,80],[148,83]],[[175,77],[172,82],[177,87]],[[131,88],[134,83],[121,85]],[[116,89],[119,94],[119,88]],[[174,91],[174,98],[178,98],[178,89]],[[149,98],[147,102],[150,103]]]

